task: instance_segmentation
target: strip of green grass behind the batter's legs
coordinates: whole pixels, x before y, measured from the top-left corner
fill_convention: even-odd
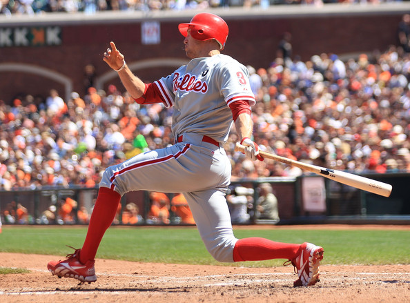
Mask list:
[[[80,248],[86,226],[3,226],[0,252],[61,255],[72,253],[66,245]],[[410,264],[409,231],[327,230],[275,227],[235,229],[237,238],[266,237],[286,242],[312,242],[323,246],[322,264]],[[206,251],[195,227],[112,226],[104,235],[97,258],[138,262],[222,265]],[[240,262],[235,266],[279,266],[285,260]],[[233,264],[224,264],[233,265]],[[1,271],[0,271],[1,273]]]

